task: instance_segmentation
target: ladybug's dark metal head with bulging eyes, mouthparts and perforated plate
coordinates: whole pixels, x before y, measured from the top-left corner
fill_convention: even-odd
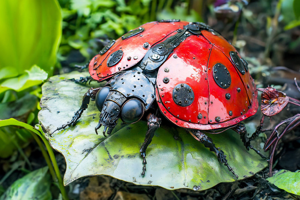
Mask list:
[[[103,125],[103,133],[107,131],[110,134],[118,118],[132,124],[143,117],[145,110],[155,99],[154,86],[149,79],[141,79],[143,76],[145,75],[137,71],[116,75],[107,82],[107,86],[97,92],[95,101],[101,114],[96,130]],[[149,88],[151,91],[147,91]]]

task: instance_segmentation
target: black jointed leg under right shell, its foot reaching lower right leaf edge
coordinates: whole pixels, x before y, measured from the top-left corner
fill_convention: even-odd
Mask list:
[[[201,142],[205,147],[209,148],[210,151],[213,151],[217,157],[218,160],[221,163],[224,163],[225,166],[227,166],[228,170],[232,172],[233,175],[235,175],[236,178],[238,178],[238,175],[236,175],[233,171],[233,169],[228,165],[226,155],[224,155],[224,152],[220,150],[220,148],[216,148],[214,143],[212,142],[212,139],[205,135],[204,133],[201,133],[199,130],[188,130],[188,132],[199,142]]]

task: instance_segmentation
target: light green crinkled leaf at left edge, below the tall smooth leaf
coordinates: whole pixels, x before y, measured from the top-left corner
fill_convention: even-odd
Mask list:
[[[3,89],[13,89],[15,91],[22,91],[35,85],[40,85],[44,80],[47,79],[48,74],[40,67],[34,65],[30,70],[25,70],[26,73],[23,75],[10,78],[0,84]]]

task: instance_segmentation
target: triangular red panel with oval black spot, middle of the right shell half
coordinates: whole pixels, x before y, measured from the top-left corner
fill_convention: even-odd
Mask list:
[[[213,78],[213,68],[219,63],[226,67],[231,76],[231,84],[227,88],[221,88]],[[236,124],[235,120],[241,121],[255,114],[257,108],[255,110],[252,110],[251,107],[250,109],[248,108],[248,106],[250,106],[248,95],[237,70],[223,52],[216,47],[213,47],[211,50],[207,73],[209,86],[209,123],[217,123],[218,121],[216,121],[215,118],[220,117],[219,122],[235,118],[233,124]],[[227,74],[225,73],[223,76],[227,76]],[[241,88],[240,92],[238,92],[238,88]],[[230,94],[230,99],[228,99],[228,93]],[[229,115],[229,111],[232,111],[231,116]],[[244,115],[246,115],[246,117]],[[233,125],[230,122],[229,124]]]

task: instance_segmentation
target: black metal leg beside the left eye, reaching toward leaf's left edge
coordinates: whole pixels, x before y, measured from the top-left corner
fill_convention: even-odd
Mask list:
[[[71,121],[69,121],[67,124],[62,125],[61,127],[58,127],[56,130],[54,130],[52,133],[50,133],[50,136],[57,130],[61,130],[64,129],[67,126],[74,126],[76,121],[81,117],[81,114],[83,113],[83,111],[85,109],[88,108],[88,104],[90,103],[90,99],[91,100],[95,100],[96,98],[96,94],[97,92],[100,90],[101,88],[90,88],[88,89],[88,91],[84,94],[83,98],[82,98],[82,104],[79,108],[79,110],[77,110],[72,118]]]

